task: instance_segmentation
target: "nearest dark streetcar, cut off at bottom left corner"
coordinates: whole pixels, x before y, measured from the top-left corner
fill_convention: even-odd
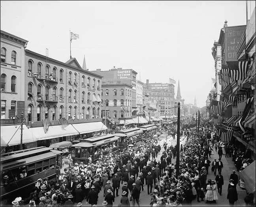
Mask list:
[[[61,166],[62,153],[50,147],[34,147],[1,154],[1,204],[17,196],[28,197],[40,178],[56,181],[56,166]]]

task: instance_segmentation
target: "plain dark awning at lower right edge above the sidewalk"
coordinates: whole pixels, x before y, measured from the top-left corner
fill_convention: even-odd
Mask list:
[[[245,189],[248,193],[255,192],[255,162],[256,160],[239,173],[240,178],[245,182]]]

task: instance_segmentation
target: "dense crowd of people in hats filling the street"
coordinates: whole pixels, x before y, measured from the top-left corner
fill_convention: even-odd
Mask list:
[[[159,140],[156,136],[153,138],[152,135],[151,140],[143,142],[137,149],[130,147],[120,154],[102,156],[96,163],[89,162],[88,165],[75,163],[75,166],[65,168],[64,173],[58,175],[57,182],[38,179],[36,190],[28,198],[22,200],[18,197],[12,204],[23,206],[29,202],[26,206],[85,206],[87,203],[91,206],[135,206],[137,203],[139,206],[143,190],[151,196],[147,203],[150,206],[191,206],[193,200],[216,203],[222,193],[223,164],[221,157],[213,162],[208,158],[216,145],[220,150],[224,143],[215,140],[208,124],[202,123],[200,131],[191,128],[190,131],[187,129],[181,132],[180,173],[177,177],[176,164],[171,163],[171,159],[177,157],[176,145],[173,146],[176,140],[171,135],[166,140]],[[173,134],[172,129],[169,129],[168,134]],[[237,160],[236,156],[243,156],[232,150],[226,154],[233,156],[233,160]],[[158,156],[160,160],[156,161]],[[247,161],[250,162],[243,160],[242,168],[246,167]],[[209,168],[217,174],[215,180],[207,180]],[[230,206],[237,201],[237,183],[238,177],[233,171],[227,197]],[[101,191],[104,202],[98,203]],[[117,199],[117,196],[120,197]]]

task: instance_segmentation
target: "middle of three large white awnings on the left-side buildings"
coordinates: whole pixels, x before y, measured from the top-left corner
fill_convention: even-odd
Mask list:
[[[79,132],[70,124],[63,128],[61,125],[49,126],[48,132],[45,133],[43,127],[29,128],[32,132],[32,136],[36,140],[48,140],[62,136],[71,136],[79,134]]]

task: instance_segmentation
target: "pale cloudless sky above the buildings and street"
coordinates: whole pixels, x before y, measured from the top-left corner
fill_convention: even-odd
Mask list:
[[[250,2],[250,1],[248,1]],[[205,106],[214,87],[211,54],[224,22],[246,25],[246,1],[5,1],[1,30],[26,39],[26,49],[89,71],[113,66],[146,83],[178,81],[185,104]]]

